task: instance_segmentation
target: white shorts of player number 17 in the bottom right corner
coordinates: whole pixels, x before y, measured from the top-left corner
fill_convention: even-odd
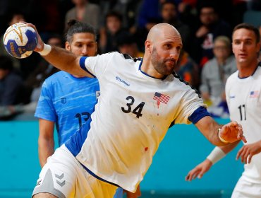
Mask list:
[[[249,182],[245,180],[244,175],[240,177],[233,190],[231,198],[260,198],[261,184]]]

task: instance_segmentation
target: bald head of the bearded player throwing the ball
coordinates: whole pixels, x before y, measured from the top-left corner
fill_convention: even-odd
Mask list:
[[[154,25],[145,41],[142,71],[163,78],[174,71],[182,48],[181,35],[168,23]]]

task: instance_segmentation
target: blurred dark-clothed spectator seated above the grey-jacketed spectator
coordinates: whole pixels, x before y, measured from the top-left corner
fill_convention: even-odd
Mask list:
[[[200,66],[204,66],[214,56],[214,39],[219,35],[230,38],[231,26],[219,19],[219,15],[212,4],[204,4],[200,8],[200,23],[200,27],[195,33],[191,56]]]

